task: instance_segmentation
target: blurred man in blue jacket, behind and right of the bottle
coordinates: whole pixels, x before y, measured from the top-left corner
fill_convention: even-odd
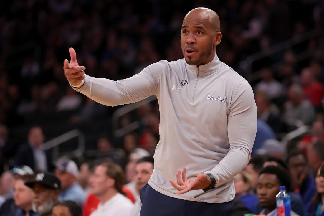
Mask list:
[[[314,177],[309,173],[307,157],[298,150],[292,150],[286,159],[291,174],[292,189],[303,199],[304,209],[307,210],[316,192]]]

